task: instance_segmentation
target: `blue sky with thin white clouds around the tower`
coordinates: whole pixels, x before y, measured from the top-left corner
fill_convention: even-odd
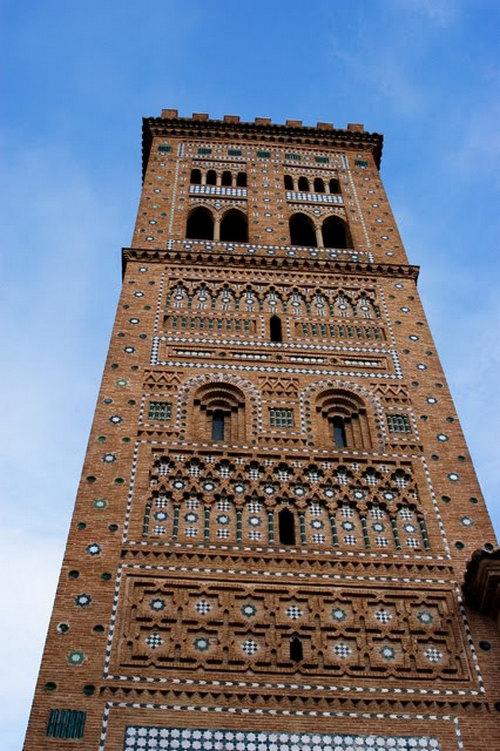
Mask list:
[[[500,528],[500,4],[31,0],[0,12],[0,747],[13,751],[135,219],[143,115],[177,107],[385,134],[382,176]]]

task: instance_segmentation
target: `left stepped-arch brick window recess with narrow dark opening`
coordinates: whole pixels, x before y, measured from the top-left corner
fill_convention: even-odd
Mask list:
[[[195,394],[189,416],[190,437],[202,441],[243,443],[245,395],[229,383],[208,383]]]

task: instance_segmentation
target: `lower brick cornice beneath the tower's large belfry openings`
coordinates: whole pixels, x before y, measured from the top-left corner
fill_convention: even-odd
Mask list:
[[[341,261],[329,258],[312,258],[302,255],[269,256],[265,251],[256,251],[253,255],[238,254],[223,249],[151,249],[122,248],[122,272],[129,261],[146,261],[173,265],[199,266],[201,268],[220,266],[232,268],[256,268],[263,271],[321,271],[322,274],[354,274],[357,276],[389,276],[418,279],[420,267],[402,263],[378,263],[362,261]]]

